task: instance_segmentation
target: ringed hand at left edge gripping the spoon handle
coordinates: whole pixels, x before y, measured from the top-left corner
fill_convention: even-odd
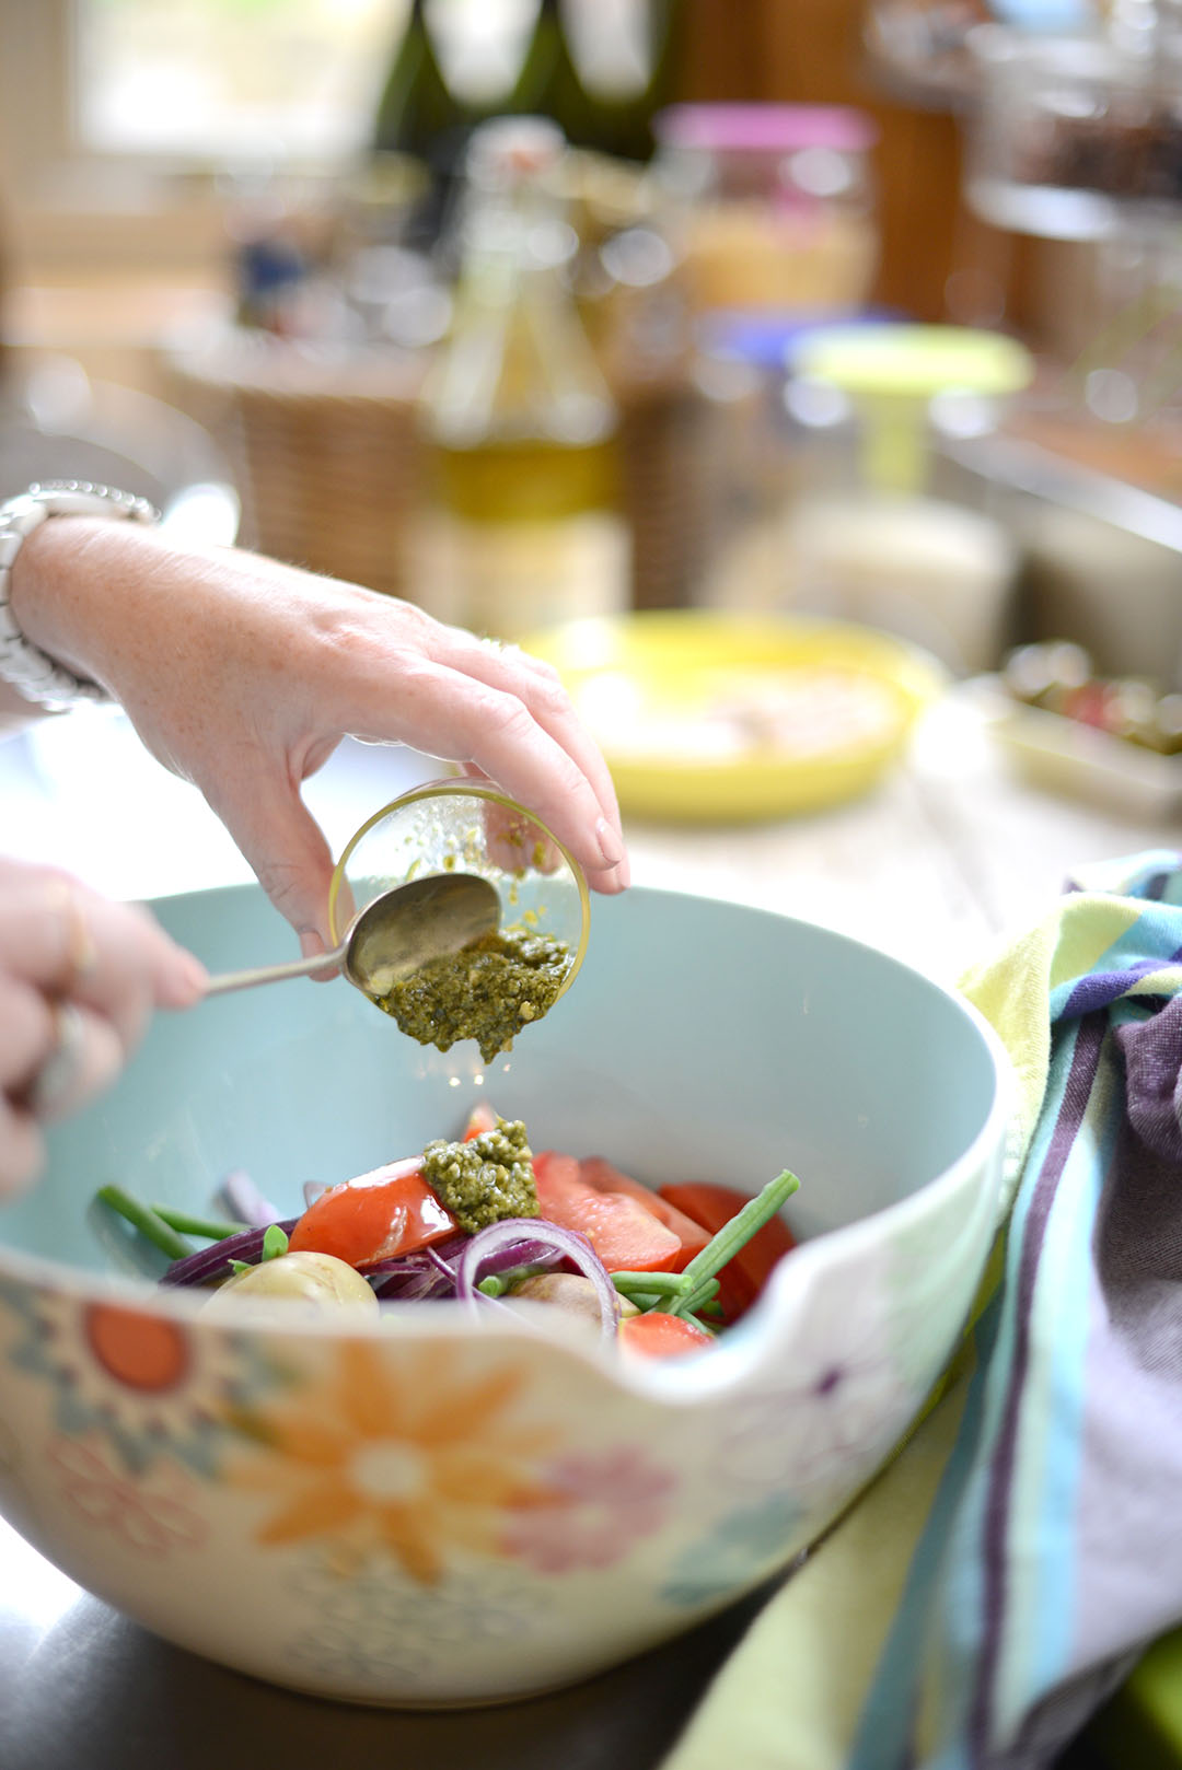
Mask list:
[[[206,972],[144,912],[0,858],[0,1197],[39,1172],[41,1126],[108,1087],[158,1007]]]

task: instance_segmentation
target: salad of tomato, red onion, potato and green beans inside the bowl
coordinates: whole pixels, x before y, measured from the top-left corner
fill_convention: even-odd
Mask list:
[[[119,1186],[99,1200],[172,1257],[163,1285],[213,1290],[229,1319],[275,1304],[305,1313],[455,1299],[486,1324],[489,1304],[525,1303],[588,1322],[647,1358],[707,1351],[796,1246],[778,1211],[787,1170],[755,1197],[728,1186],[642,1186],[603,1156],[537,1156],[517,1119],[480,1103],[463,1138],[337,1186],[307,1186],[305,1211],[278,1211],[234,1174],[225,1223],[144,1204]],[[190,1251],[183,1232],[206,1248]]]

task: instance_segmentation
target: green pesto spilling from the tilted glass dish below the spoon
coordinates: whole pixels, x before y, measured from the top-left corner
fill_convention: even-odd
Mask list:
[[[420,1044],[448,1051],[475,1039],[491,1064],[514,1037],[555,1005],[571,965],[571,949],[553,935],[493,929],[459,952],[427,959],[400,977],[379,1007]]]

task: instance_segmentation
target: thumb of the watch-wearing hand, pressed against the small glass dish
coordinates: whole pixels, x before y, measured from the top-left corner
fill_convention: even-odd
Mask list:
[[[326,952],[328,887],[333,857],[324,832],[287,781],[255,775],[239,791],[209,804],[225,823],[259,883],[299,935],[307,958]]]

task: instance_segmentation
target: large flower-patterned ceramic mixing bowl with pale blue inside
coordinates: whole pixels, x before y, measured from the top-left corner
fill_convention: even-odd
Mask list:
[[[253,889],[158,904],[214,970],[291,949]],[[964,1002],[803,922],[634,889],[574,989],[482,1069],[346,982],[161,1016],[0,1212],[0,1504],[73,1579],[197,1653],[326,1696],[448,1705],[576,1680],[808,1543],[890,1453],[971,1306],[1005,1058]],[[399,1304],[236,1324],[158,1290],[117,1220],[245,1168],[284,1212],[459,1135],[746,1191],[790,1166],[803,1246],[709,1352]]]

